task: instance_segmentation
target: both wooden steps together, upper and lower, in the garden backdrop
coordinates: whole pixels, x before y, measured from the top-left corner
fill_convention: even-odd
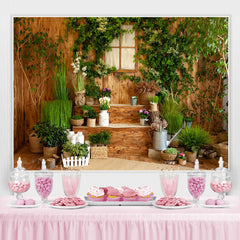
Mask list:
[[[99,112],[99,106],[93,105]],[[108,146],[108,157],[131,158],[134,156],[147,156],[148,148],[151,147],[149,137],[150,126],[140,126],[137,111],[145,108],[143,105],[131,106],[116,104],[111,105],[109,112],[109,127],[86,127],[73,126],[74,132],[82,132],[85,140],[89,134],[98,133],[102,130],[111,132],[111,144]],[[74,114],[82,114],[80,107],[75,106]]]

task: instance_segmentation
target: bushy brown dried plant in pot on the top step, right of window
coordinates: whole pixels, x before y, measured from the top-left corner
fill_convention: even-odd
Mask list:
[[[139,101],[142,105],[147,105],[149,103],[148,97],[153,97],[156,93],[161,91],[161,87],[155,81],[140,81],[135,86],[136,91],[139,94]]]

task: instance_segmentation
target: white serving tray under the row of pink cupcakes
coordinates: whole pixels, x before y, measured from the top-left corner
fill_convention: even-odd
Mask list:
[[[88,206],[152,206],[156,201],[156,196],[153,196],[150,201],[101,201],[94,202],[88,199],[87,196],[84,197],[85,201],[88,203]]]

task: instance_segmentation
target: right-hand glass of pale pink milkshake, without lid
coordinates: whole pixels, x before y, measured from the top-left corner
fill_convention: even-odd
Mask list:
[[[162,192],[165,197],[174,197],[178,187],[178,174],[164,172],[160,174]]]

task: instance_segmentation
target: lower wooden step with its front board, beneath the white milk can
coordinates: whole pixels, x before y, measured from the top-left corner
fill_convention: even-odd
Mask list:
[[[110,144],[108,145],[108,157],[127,158],[129,156],[147,156],[148,148],[151,147],[149,137],[150,126],[139,124],[110,124],[109,127],[76,127],[73,131],[82,132],[85,140],[89,134],[103,130],[111,132]]]

